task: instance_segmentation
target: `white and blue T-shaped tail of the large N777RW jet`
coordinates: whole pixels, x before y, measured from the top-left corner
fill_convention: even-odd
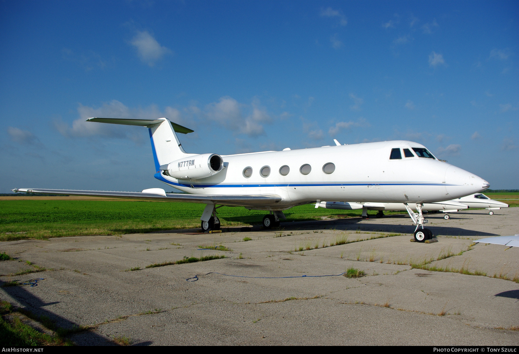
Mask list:
[[[180,159],[187,154],[176,137],[176,133],[191,133],[194,130],[171,122],[167,118],[160,119],[122,119],[122,118],[89,118],[87,121],[100,123],[124,124],[130,126],[147,127],[149,139],[152,142],[153,159],[155,160],[155,171],[160,170],[161,165],[169,164],[171,161]]]

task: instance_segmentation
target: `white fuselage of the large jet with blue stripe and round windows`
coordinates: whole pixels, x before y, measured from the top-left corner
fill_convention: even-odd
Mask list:
[[[189,194],[281,196],[275,204],[250,208],[266,210],[284,210],[316,200],[430,203],[488,188],[488,182],[479,176],[438,159],[418,157],[416,153],[390,159],[393,148],[412,147],[424,146],[411,141],[385,141],[222,155],[225,168],[208,178],[177,180],[160,172],[155,177]],[[332,173],[324,169],[329,163],[335,167]],[[288,174],[286,167],[281,171],[284,166],[288,166]],[[250,176],[244,173],[247,168],[252,169]]]

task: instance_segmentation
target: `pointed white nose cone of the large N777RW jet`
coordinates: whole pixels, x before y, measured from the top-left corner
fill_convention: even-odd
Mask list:
[[[445,184],[449,197],[453,199],[482,192],[490,186],[481,177],[456,166],[449,166],[445,171]]]

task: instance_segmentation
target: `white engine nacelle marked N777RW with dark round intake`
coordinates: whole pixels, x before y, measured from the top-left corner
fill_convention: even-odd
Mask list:
[[[223,167],[222,156],[202,154],[170,162],[168,165],[160,166],[160,169],[163,174],[177,180],[199,180],[222,171]]]

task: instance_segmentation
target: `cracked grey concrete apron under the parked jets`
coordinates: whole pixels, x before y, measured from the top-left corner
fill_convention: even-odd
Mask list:
[[[94,325],[71,337],[81,345],[113,345],[121,336],[133,345],[517,345],[519,332],[507,329],[519,325],[519,284],[489,276],[512,279],[519,249],[469,246],[517,233],[518,214],[429,215],[439,239],[430,244],[409,242],[414,227],[400,215],[2,242],[0,251],[16,258],[0,263],[2,282],[44,280],[0,288],[0,297],[63,328]],[[346,236],[356,242],[330,247]],[[229,251],[200,250],[218,244]],[[210,254],[227,258],[146,268]],[[15,275],[30,269],[25,261],[48,270]],[[488,276],[412,269],[413,262]],[[350,267],[366,276],[340,275]]]

